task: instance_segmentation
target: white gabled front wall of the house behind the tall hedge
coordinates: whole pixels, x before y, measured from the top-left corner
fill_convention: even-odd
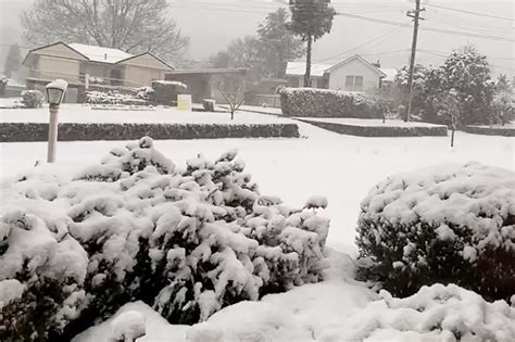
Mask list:
[[[329,89],[335,90],[355,90],[346,89],[346,77],[347,76],[362,76],[363,77],[363,89],[377,89],[379,88],[379,75],[374,72],[368,65],[354,59],[348,63],[335,68],[329,75]]]

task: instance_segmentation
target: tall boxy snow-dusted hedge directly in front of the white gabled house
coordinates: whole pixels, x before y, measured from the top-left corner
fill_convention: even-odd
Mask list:
[[[280,106],[286,116],[381,118],[385,100],[361,92],[312,88],[284,88]]]

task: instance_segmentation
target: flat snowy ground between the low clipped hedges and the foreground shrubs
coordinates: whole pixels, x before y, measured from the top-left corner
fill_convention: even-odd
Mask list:
[[[159,140],[155,147],[176,165],[184,165],[198,153],[215,159],[237,148],[239,157],[247,163],[247,172],[261,185],[262,193],[279,195],[291,205],[303,205],[312,194],[326,195],[327,215],[331,218],[328,244],[352,255],[356,252],[354,229],[360,202],[389,175],[469,161],[515,169],[514,138],[456,132],[455,148],[451,149],[449,137],[362,138],[302,123],[299,127],[301,136],[307,139]],[[100,161],[112,148],[125,143],[59,142],[58,163],[35,170],[71,177],[81,167]],[[3,186],[8,186],[9,178],[34,169],[37,161],[45,161],[46,149],[45,142],[1,143],[0,176],[7,177]]]

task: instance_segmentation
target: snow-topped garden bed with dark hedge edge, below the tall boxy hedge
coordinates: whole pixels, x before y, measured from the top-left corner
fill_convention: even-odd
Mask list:
[[[362,118],[317,118],[297,117],[296,119],[343,135],[360,137],[422,137],[447,136],[447,127],[426,123],[404,123],[401,121]]]

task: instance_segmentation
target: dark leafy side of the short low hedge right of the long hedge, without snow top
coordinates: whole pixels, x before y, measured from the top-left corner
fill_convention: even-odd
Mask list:
[[[335,123],[323,123],[300,119],[324,129],[336,131],[342,135],[359,136],[359,137],[423,137],[423,136],[447,136],[445,126],[434,127],[394,127],[394,126],[354,126]]]

